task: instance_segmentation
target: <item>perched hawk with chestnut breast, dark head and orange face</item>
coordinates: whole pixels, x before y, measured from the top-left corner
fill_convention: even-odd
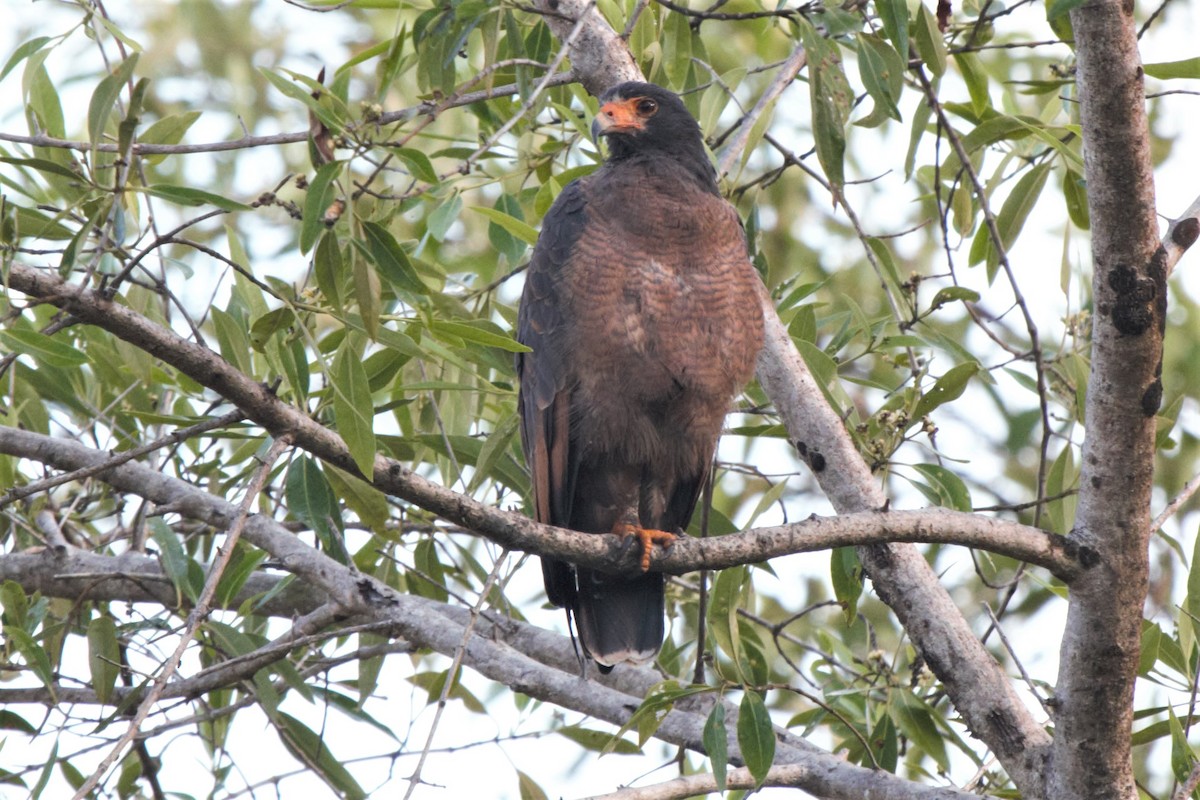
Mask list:
[[[762,344],[758,276],[700,126],[670,91],[624,83],[593,132],[608,160],[558,196],[521,297],[521,438],[539,522],[641,540],[643,573],[541,561],[546,594],[608,672],[662,644],[654,542],[688,527],[733,397]]]

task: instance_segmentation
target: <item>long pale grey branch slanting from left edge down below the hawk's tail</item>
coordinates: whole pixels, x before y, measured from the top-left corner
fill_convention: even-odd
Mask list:
[[[36,435],[11,428],[0,428],[0,434]],[[88,461],[88,449],[82,445],[48,441],[66,445],[58,451],[60,455],[73,453],[80,462]],[[121,464],[100,473],[98,477],[120,491],[169,505],[176,513],[221,529],[240,516],[234,504],[139,464]],[[386,624],[394,636],[416,648],[433,649],[451,657],[461,648],[463,664],[536,699],[623,724],[650,687],[661,680],[661,675],[652,669],[630,667],[620,667],[594,681],[580,680],[575,649],[565,637],[496,613],[486,613],[469,631],[468,626],[473,624],[469,609],[397,594],[374,578],[304,545],[268,517],[247,517],[242,537],[282,563],[310,588],[331,599],[340,613]],[[680,700],[655,735],[670,744],[703,752],[703,726],[710,704],[712,699]],[[737,709],[732,705],[727,718],[728,752],[734,763],[740,763],[736,735]],[[918,787],[887,772],[847,764],[786,730],[776,732],[776,762],[805,765],[810,780],[802,788],[820,796],[846,800],[863,796],[970,796]]]

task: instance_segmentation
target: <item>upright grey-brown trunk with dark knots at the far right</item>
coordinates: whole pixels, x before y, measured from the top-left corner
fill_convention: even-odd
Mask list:
[[[1070,591],[1048,795],[1124,800],[1138,796],[1129,734],[1148,585],[1166,251],[1158,240],[1133,4],[1090,0],[1070,20],[1096,307],[1070,539],[1092,548],[1099,564]]]

